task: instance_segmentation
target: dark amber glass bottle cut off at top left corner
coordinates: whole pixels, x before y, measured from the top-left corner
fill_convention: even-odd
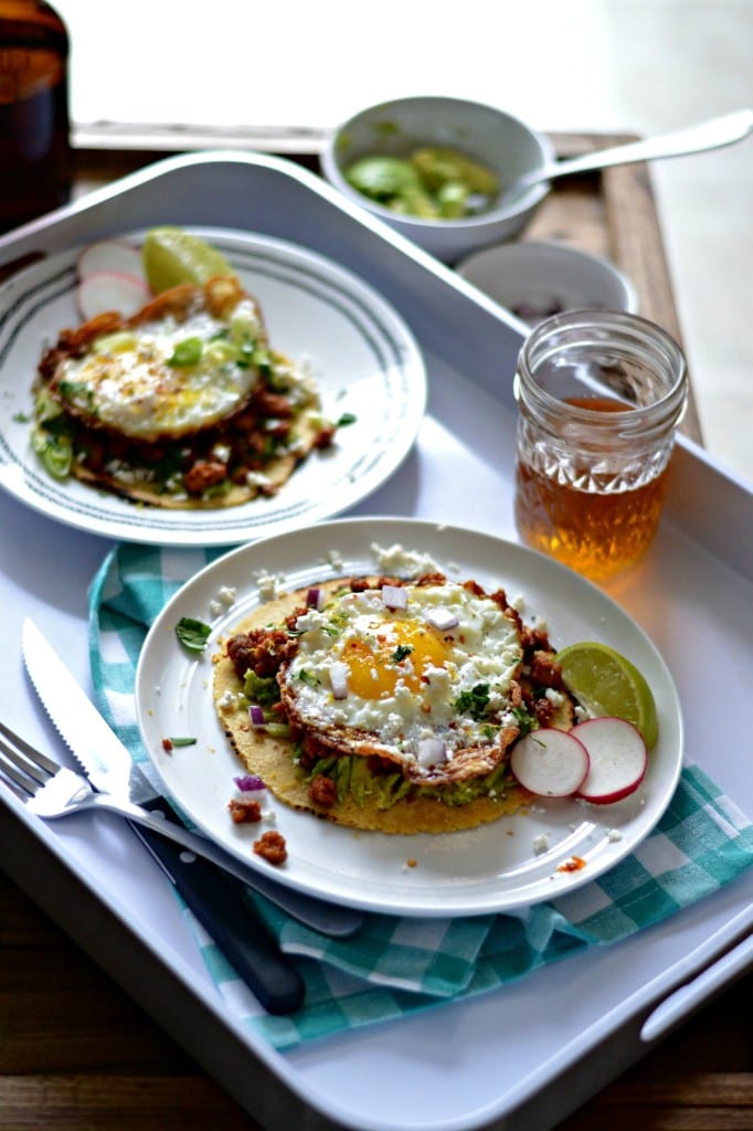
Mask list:
[[[66,25],[42,0],[0,0],[0,231],[68,200]]]

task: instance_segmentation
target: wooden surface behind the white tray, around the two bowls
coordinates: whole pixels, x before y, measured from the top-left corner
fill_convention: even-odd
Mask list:
[[[617,133],[553,133],[559,157],[574,157],[595,149],[634,141],[634,135]],[[78,148],[75,152],[76,176],[73,196],[85,196],[93,189],[124,176],[164,156],[175,148],[167,136],[162,139],[164,150],[129,148],[130,133],[120,136],[122,148]],[[211,136],[209,141],[220,148],[232,145],[249,148],[248,140]],[[204,148],[201,139],[187,148]],[[107,131],[106,144],[119,144],[119,133]],[[315,153],[289,154],[296,161],[318,170]],[[682,334],[672,292],[669,269],[648,165],[622,165],[600,173],[563,178],[537,211],[522,234],[523,240],[551,240],[570,244],[582,251],[604,256],[620,267],[632,280],[644,318],[661,326],[682,344]],[[701,426],[692,390],[682,432],[696,443],[703,443]]]

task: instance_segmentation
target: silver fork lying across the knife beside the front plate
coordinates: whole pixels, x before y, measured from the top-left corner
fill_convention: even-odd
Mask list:
[[[47,754],[36,750],[31,743],[15,734],[5,723],[0,723],[0,782],[37,817],[54,820],[69,817],[72,813],[90,812],[92,810],[109,810],[121,817],[144,824],[168,840],[181,845],[189,853],[211,861],[225,872],[254,891],[266,896],[270,903],[280,907],[288,915],[306,926],[323,934],[345,935],[361,921],[360,914],[353,915],[350,924],[349,908],[329,907],[323,900],[305,892],[285,888],[276,880],[246,867],[235,860],[219,845],[208,840],[199,832],[174,823],[163,813],[149,812],[129,801],[114,797],[109,793],[97,793],[81,775],[60,766]],[[328,920],[331,921],[328,925]]]

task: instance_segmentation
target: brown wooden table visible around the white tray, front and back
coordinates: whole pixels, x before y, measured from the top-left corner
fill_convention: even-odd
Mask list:
[[[571,136],[560,141],[563,153],[583,146],[583,139]],[[78,191],[147,159],[154,154],[81,154]],[[646,174],[640,167],[630,176],[628,170],[612,173],[623,175],[612,176],[608,197],[604,185],[595,190],[592,182],[563,182],[568,188],[553,193],[526,236],[561,239],[609,254],[631,274],[647,317],[680,337]],[[625,193],[638,228],[620,216]],[[691,430],[695,423],[691,418]],[[753,974],[707,1004],[556,1131],[637,1126],[753,1131]],[[124,1128],[261,1131],[0,873],[0,1131]]]

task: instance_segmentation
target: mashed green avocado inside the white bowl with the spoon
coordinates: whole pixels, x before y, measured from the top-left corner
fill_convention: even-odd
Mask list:
[[[500,191],[490,169],[447,146],[422,146],[406,157],[360,157],[345,179],[384,208],[422,219],[474,216],[491,208]]]

